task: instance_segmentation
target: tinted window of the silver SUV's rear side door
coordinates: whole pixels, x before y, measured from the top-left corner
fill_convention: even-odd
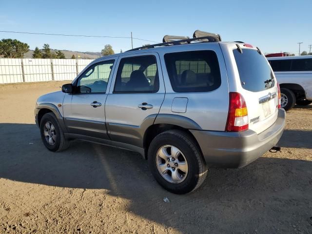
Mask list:
[[[157,63],[154,56],[120,60],[114,93],[153,93],[158,91],[158,86]]]

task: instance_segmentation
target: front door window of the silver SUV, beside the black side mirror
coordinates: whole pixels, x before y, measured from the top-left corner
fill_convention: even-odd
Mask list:
[[[100,62],[89,67],[77,82],[78,93],[105,93],[114,60]]]

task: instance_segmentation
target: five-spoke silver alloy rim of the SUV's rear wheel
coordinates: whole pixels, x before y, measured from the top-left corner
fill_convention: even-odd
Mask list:
[[[185,180],[189,167],[183,153],[173,145],[164,145],[156,154],[156,166],[160,175],[170,183]]]

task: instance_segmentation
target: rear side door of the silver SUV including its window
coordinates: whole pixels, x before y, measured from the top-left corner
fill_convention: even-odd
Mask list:
[[[147,125],[153,124],[165,97],[157,53],[120,56],[105,104],[108,135],[142,148]]]

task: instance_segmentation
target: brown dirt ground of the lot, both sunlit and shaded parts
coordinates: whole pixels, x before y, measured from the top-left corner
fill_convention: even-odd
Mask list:
[[[35,101],[62,83],[0,86],[0,233],[312,234],[312,105],[287,113],[281,153],[210,169],[174,195],[137,153],[82,141],[46,150]]]

